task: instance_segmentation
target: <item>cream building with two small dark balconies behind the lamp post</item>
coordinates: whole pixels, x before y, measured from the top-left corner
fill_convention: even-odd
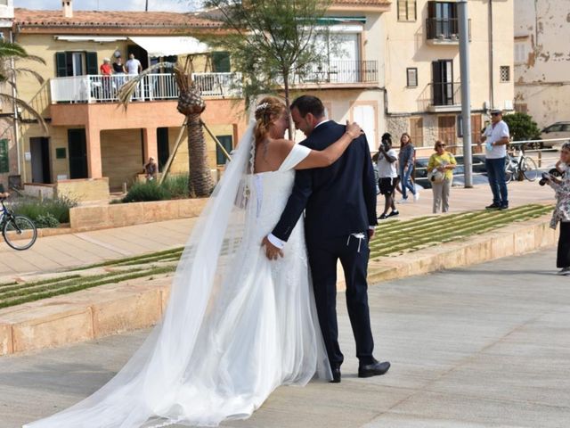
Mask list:
[[[513,3],[468,2],[474,138],[486,111],[513,109]],[[397,137],[410,133],[417,146],[433,146],[437,139],[462,143],[457,6],[455,1],[395,0],[383,15],[386,129]]]

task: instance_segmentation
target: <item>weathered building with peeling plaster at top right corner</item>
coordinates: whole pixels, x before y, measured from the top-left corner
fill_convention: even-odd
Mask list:
[[[570,4],[515,2],[515,108],[539,127],[570,120]]]

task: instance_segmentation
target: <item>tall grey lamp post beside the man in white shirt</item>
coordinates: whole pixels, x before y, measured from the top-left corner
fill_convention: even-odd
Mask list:
[[[463,122],[463,162],[465,187],[473,187],[473,160],[471,153],[471,96],[469,78],[468,0],[458,0],[460,29],[461,117]]]

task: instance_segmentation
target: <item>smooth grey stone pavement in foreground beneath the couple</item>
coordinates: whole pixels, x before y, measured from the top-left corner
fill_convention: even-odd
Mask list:
[[[555,251],[372,286],[376,355],[387,375],[355,376],[339,294],[343,382],[282,387],[233,428],[562,428],[570,421],[570,278]],[[147,331],[0,358],[0,428],[96,391]]]

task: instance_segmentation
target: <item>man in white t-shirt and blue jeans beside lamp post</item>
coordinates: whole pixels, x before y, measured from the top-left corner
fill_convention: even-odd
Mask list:
[[[501,110],[491,111],[491,124],[485,129],[478,144],[485,143],[485,168],[493,192],[493,203],[487,210],[507,210],[509,194],[505,177],[505,158],[509,144],[509,126],[502,119]]]

